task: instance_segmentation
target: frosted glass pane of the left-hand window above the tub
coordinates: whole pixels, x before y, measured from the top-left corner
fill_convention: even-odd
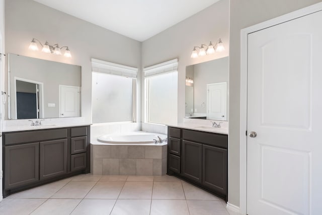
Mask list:
[[[135,79],[92,73],[93,123],[133,121]]]

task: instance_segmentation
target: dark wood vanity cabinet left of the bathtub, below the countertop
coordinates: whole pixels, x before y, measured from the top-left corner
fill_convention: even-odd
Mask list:
[[[4,196],[89,173],[90,126],[3,132],[3,171]]]

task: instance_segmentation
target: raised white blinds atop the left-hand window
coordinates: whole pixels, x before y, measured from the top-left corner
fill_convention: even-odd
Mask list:
[[[138,69],[92,58],[92,71],[136,79]]]

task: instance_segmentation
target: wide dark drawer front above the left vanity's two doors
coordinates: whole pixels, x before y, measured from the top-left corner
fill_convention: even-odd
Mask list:
[[[67,138],[67,128],[5,133],[5,145]]]

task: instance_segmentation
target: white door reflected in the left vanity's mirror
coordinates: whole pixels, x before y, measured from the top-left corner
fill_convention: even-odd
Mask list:
[[[79,87],[59,85],[59,117],[80,116],[79,98]]]

